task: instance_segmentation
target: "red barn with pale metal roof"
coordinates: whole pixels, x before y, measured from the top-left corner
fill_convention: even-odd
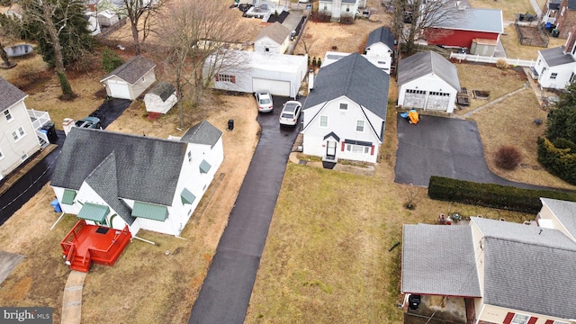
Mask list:
[[[454,14],[454,19],[442,20],[424,31],[428,44],[471,49],[473,41],[500,40],[504,31],[501,10],[461,8]]]

